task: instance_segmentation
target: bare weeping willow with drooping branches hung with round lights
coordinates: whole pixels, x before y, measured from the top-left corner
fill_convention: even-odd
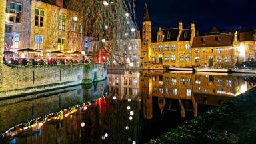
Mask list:
[[[137,64],[137,39],[134,0],[69,0],[67,9],[76,11],[77,31],[98,41],[94,55],[107,54],[108,63]],[[135,50],[135,51],[134,51]]]

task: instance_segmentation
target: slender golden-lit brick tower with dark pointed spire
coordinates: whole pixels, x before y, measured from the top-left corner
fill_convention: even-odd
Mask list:
[[[145,3],[145,11],[142,22],[142,44],[140,61],[141,63],[151,62],[151,21],[149,20],[149,11],[147,9],[147,3]]]

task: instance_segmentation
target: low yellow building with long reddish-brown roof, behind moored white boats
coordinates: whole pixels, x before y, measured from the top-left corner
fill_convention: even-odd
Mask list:
[[[194,37],[192,48],[193,67],[234,67],[237,63],[237,33]]]

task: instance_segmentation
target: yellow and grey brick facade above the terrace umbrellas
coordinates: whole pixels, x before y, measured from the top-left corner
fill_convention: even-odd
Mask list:
[[[79,19],[62,0],[7,1],[5,50],[81,51]]]

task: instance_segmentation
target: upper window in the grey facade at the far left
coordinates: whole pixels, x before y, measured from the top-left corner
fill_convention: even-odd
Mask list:
[[[21,4],[11,3],[10,13],[13,13],[14,15],[11,15],[9,17],[9,21],[12,21],[15,23],[21,23]]]

